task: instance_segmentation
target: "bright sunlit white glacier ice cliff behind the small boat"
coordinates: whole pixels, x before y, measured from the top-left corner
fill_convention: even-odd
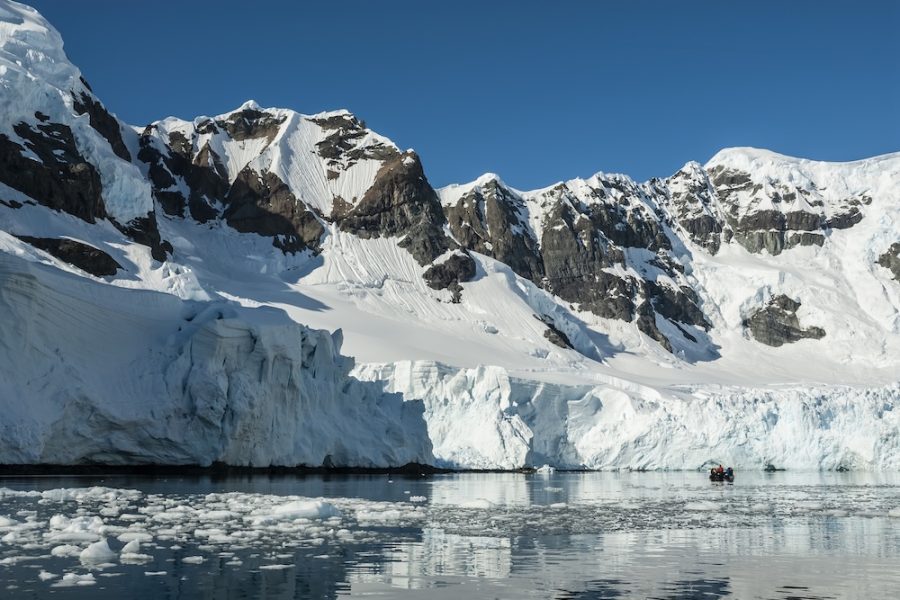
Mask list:
[[[564,385],[500,367],[366,364],[361,379],[425,401],[440,466],[594,470],[897,470],[900,384]]]

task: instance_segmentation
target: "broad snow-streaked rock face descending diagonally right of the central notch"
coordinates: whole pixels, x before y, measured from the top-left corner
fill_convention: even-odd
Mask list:
[[[671,321],[678,343],[697,341],[692,328],[698,335],[709,329],[675,260],[659,185],[597,175],[523,195],[489,176],[442,193],[463,247],[505,262],[575,307],[633,322],[669,351],[658,319]]]

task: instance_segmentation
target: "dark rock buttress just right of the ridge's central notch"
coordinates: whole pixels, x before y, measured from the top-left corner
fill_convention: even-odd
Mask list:
[[[450,231],[464,247],[493,257],[531,281],[544,276],[537,240],[522,216],[522,199],[497,181],[444,208]]]

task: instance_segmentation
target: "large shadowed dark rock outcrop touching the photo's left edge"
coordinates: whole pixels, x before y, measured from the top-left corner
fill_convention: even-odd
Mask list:
[[[58,123],[25,123],[13,127],[39,160],[0,134],[0,181],[38,203],[88,223],[106,217],[100,174],[79,153],[72,130]]]

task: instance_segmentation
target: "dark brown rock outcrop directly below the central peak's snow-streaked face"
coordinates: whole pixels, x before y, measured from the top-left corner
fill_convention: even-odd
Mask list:
[[[319,249],[325,228],[271,172],[260,175],[245,167],[228,190],[225,204],[224,217],[237,231],[272,236],[273,245],[284,252]]]

